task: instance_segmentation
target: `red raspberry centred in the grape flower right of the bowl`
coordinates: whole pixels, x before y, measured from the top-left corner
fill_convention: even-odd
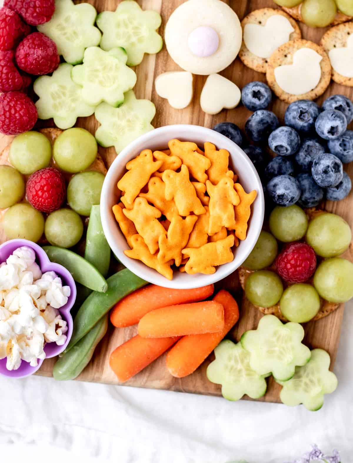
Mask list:
[[[305,243],[290,243],[276,258],[278,275],[290,283],[306,282],[316,269],[314,249]]]

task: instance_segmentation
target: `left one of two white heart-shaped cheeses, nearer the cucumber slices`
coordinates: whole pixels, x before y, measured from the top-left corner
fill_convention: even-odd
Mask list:
[[[157,94],[175,109],[186,108],[193,99],[193,75],[187,71],[160,74],[154,81]]]

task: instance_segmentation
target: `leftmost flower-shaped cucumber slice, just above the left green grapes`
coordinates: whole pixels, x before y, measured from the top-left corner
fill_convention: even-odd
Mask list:
[[[71,79],[71,64],[59,64],[51,76],[36,79],[33,90],[39,96],[36,102],[39,119],[53,118],[59,129],[69,129],[81,116],[90,116],[95,106],[82,99],[82,88]]]

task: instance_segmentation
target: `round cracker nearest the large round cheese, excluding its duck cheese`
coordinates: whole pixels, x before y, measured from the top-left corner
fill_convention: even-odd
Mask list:
[[[252,11],[247,16],[245,16],[241,22],[242,29],[244,31],[244,26],[246,24],[266,24],[266,21],[275,14],[284,16],[292,25],[294,31],[290,34],[289,40],[302,38],[302,32],[300,31],[299,26],[295,20],[291,18],[289,14],[284,13],[284,11],[275,10],[274,8],[261,8],[260,10]],[[266,73],[268,61],[267,58],[261,58],[260,56],[256,56],[251,53],[251,51],[246,48],[244,40],[242,41],[242,46],[240,47],[239,58],[248,68],[254,69],[254,71],[257,72],[262,72],[263,74]]]

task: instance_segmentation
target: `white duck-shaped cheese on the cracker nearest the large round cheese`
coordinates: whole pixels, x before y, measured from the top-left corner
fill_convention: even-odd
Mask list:
[[[282,44],[289,41],[294,32],[289,20],[280,14],[267,19],[265,25],[246,24],[244,26],[244,44],[256,56],[268,58]]]

